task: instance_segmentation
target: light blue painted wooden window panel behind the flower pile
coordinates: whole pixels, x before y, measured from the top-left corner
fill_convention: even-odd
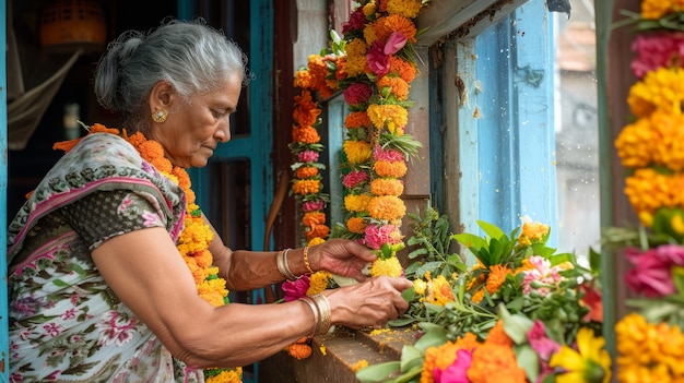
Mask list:
[[[468,56],[480,89],[479,219],[505,231],[523,215],[557,222],[552,26],[544,1],[531,0],[483,31]]]

